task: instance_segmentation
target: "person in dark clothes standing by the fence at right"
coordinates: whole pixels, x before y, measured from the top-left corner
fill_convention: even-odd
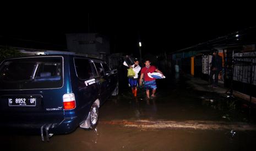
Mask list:
[[[216,88],[218,85],[219,80],[219,73],[222,70],[222,58],[218,55],[219,51],[217,49],[214,49],[213,52],[213,59],[211,60],[211,71],[209,75],[209,82],[210,86],[213,86],[213,88]],[[214,79],[213,79],[214,75]]]

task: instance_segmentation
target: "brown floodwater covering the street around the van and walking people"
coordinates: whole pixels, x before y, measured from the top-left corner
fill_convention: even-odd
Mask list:
[[[172,79],[172,80],[170,80]],[[157,80],[156,97],[128,88],[100,108],[95,130],[78,127],[42,142],[2,135],[8,150],[249,150],[256,141],[254,107],[232,96],[197,91],[179,75]],[[3,147],[3,146],[2,146]]]

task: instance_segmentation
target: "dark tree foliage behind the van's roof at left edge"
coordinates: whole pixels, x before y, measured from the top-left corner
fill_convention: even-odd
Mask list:
[[[0,62],[9,57],[24,56],[19,50],[12,47],[0,47]]]

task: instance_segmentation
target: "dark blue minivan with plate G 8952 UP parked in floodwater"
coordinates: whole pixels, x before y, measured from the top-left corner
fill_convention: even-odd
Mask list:
[[[93,129],[99,107],[118,94],[117,70],[79,55],[39,55],[0,64],[1,129],[36,130],[47,140]]]

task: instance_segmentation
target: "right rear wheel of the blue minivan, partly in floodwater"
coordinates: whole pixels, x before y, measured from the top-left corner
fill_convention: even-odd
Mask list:
[[[80,125],[82,129],[95,129],[99,120],[99,107],[96,103],[92,104],[90,112],[86,120]]]

